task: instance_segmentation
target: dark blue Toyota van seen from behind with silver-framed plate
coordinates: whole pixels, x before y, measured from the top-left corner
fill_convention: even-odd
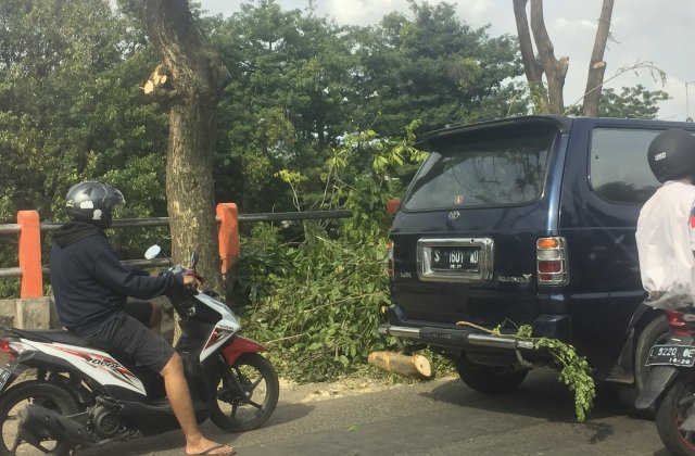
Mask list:
[[[557,338],[632,405],[649,347],[668,337],[641,305],[635,227],[658,188],[646,151],[692,123],[526,116],[428,134],[431,152],[391,229],[392,304],[379,331],[451,357],[472,389],[518,387],[530,343],[457,326]],[[529,363],[531,362],[531,363]]]

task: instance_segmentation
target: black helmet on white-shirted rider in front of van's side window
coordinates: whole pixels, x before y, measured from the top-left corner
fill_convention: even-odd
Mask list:
[[[661,131],[652,140],[647,160],[659,182],[695,175],[695,136],[680,128]]]

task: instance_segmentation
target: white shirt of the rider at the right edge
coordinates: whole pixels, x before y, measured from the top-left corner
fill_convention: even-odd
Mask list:
[[[695,186],[667,181],[644,204],[637,220],[642,284],[695,303]]]

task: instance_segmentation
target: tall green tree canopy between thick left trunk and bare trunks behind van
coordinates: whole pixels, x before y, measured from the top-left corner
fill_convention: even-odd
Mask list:
[[[311,7],[283,11],[262,0],[227,20],[205,18],[205,27],[232,74],[217,116],[225,132],[217,198],[245,212],[296,207],[295,189],[273,179],[280,169],[300,169],[305,203],[321,204],[324,163],[354,149],[351,140],[368,153],[378,147],[369,135],[400,136],[413,118],[422,119],[421,131],[520,110],[509,106],[506,83],[521,74],[515,40],[471,29],[451,4],[410,2],[409,16],[341,27]],[[341,178],[361,172],[342,168]],[[391,177],[407,181],[413,173],[403,167]]]

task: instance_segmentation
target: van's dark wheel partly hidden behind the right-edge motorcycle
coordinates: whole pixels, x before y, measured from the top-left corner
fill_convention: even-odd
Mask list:
[[[620,401],[634,415],[644,418],[652,418],[654,416],[650,411],[635,409],[634,402],[649,376],[649,368],[644,364],[647,362],[652,345],[668,342],[669,337],[669,325],[665,316],[655,318],[640,332],[637,344],[634,349],[634,383],[618,388],[618,397],[620,397]]]

